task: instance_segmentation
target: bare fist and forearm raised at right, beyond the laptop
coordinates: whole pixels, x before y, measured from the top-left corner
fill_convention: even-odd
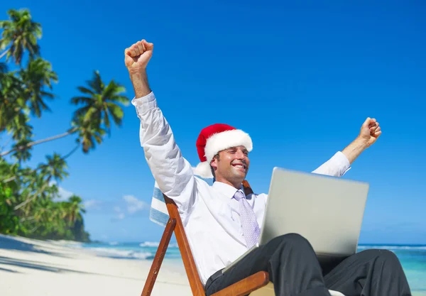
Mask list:
[[[378,126],[376,119],[371,119],[368,117],[364,124],[361,126],[361,131],[359,136],[350,143],[342,153],[349,160],[349,163],[353,163],[358,156],[366,150],[366,148],[373,145],[376,142],[377,138],[381,135],[381,128]]]

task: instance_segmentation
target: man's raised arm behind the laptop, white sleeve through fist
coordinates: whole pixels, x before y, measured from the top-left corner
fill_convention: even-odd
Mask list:
[[[355,138],[342,152],[336,153],[332,158],[323,163],[320,168],[313,172],[320,175],[331,175],[334,177],[342,177],[356,158],[373,145],[377,138],[381,135],[381,128],[376,119],[368,117],[361,126],[359,136]]]

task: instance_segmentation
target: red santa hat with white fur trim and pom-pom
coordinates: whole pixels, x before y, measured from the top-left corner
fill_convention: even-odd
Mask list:
[[[253,149],[248,133],[227,124],[212,124],[203,128],[196,145],[201,163],[194,173],[200,177],[213,177],[210,162],[219,151],[236,146],[244,146],[249,152]]]

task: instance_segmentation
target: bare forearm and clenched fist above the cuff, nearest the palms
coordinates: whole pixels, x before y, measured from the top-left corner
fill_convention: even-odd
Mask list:
[[[144,97],[151,92],[146,66],[153,55],[153,48],[153,43],[141,40],[124,50],[124,63],[129,70],[136,98]]]

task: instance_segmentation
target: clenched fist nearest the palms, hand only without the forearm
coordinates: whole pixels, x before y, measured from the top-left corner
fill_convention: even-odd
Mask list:
[[[141,40],[124,50],[124,62],[131,75],[145,71],[151,56],[153,55],[153,43]]]

